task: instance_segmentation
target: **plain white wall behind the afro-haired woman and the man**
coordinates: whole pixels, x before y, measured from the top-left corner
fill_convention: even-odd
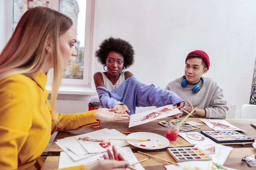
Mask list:
[[[0,9],[2,14],[2,5]],[[94,50],[110,36],[128,40],[136,51],[128,70],[141,82],[164,88],[184,75],[186,55],[201,49],[211,63],[204,76],[222,87],[231,106],[228,117],[239,118],[242,104],[249,104],[256,57],[255,0],[95,0],[94,17]],[[103,71],[97,61],[96,71]],[[75,103],[77,112],[84,111],[88,104],[58,102],[62,113]]]

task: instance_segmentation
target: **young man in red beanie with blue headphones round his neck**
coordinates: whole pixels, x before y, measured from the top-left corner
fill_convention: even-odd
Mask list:
[[[169,82],[165,89],[173,91],[182,99],[188,112],[197,107],[192,114],[194,117],[205,117],[210,119],[225,119],[229,106],[223,99],[222,89],[218,83],[207,77],[202,77],[210,67],[207,53],[202,50],[190,52],[185,60],[185,75]],[[192,106],[193,104],[193,106]],[[185,117],[187,114],[177,114],[174,118]]]

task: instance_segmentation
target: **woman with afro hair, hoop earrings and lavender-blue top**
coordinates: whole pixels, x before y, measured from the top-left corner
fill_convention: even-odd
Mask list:
[[[94,83],[99,100],[105,108],[114,108],[117,113],[135,114],[136,106],[184,106],[184,101],[172,91],[156,88],[139,82],[126,71],[134,63],[132,45],[120,38],[108,38],[101,42],[95,57],[105,72],[94,74]]]

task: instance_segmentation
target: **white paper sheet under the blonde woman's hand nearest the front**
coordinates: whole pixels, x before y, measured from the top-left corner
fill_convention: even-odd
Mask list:
[[[135,155],[133,154],[133,152],[130,149],[130,147],[119,148],[118,152],[129,163],[135,163],[135,162],[138,161],[138,159],[135,157]],[[88,158],[85,158],[85,159],[81,159],[79,161],[74,161],[65,152],[61,152],[58,168],[60,169],[60,168],[67,168],[67,167],[72,167],[72,166],[88,165],[88,164],[94,163],[96,161],[102,160],[103,159],[103,155],[107,155],[107,152],[98,153],[97,155],[93,155],[91,157],[88,157]],[[145,170],[143,168],[143,166],[141,166],[140,163],[132,166],[132,168],[135,168],[137,170]],[[127,170],[128,170],[128,168],[127,168]]]

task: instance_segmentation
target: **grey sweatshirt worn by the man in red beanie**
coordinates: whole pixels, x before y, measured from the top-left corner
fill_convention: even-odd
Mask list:
[[[195,84],[187,84],[186,87],[181,86],[183,76],[169,82],[165,89],[173,91],[178,96],[180,96],[185,101],[185,106],[187,106],[187,101],[193,104],[193,107],[199,109],[205,109],[206,116],[205,118],[209,119],[225,119],[227,116],[227,111],[229,106],[227,101],[223,99],[223,92],[218,83],[212,79],[203,77],[204,85],[198,93],[193,93],[192,88]],[[200,81],[198,86],[202,85]],[[184,113],[182,117],[185,117],[187,114]],[[195,115],[195,117],[200,117]]]

